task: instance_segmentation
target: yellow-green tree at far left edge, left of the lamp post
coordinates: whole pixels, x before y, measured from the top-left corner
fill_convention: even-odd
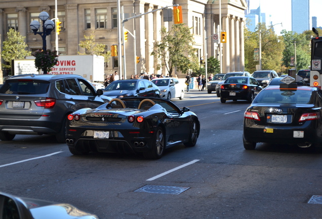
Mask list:
[[[14,29],[10,29],[7,32],[7,40],[4,41],[2,49],[2,58],[7,64],[2,65],[3,68],[11,69],[13,59],[24,59],[26,56],[31,55],[31,52],[26,50],[28,45],[25,43],[25,38]]]

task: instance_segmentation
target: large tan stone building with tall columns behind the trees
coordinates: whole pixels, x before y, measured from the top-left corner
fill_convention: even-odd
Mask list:
[[[207,57],[219,59],[219,46],[212,42],[214,33],[219,29],[220,0],[119,0],[120,9],[126,16],[144,14],[166,6],[178,4],[182,7],[183,22],[192,27],[195,37],[194,47],[199,58],[205,58],[204,44],[207,42]],[[28,50],[34,52],[42,48],[41,36],[34,35],[29,24],[38,20],[42,11],[49,13],[50,19],[55,18],[55,1],[3,1],[0,0],[0,34],[1,42],[6,40],[6,33],[14,28],[26,36]],[[222,71],[244,70],[244,24],[246,0],[221,0],[222,30],[227,32],[227,43],[222,44]],[[95,35],[98,43],[106,45],[117,44],[118,22],[117,1],[115,0],[57,0],[57,14],[62,31],[58,35],[60,55],[76,55],[82,48],[79,42],[85,40],[84,35]],[[40,20],[39,20],[40,21]],[[140,72],[150,74],[165,74],[165,69],[156,69],[157,60],[150,56],[153,43],[160,40],[159,29],[173,25],[173,21],[164,21],[164,10],[157,10],[139,18],[124,22],[125,28],[132,34],[135,32],[136,44],[131,34],[126,42],[126,77]],[[206,40],[207,38],[207,40]],[[56,33],[47,36],[47,49],[55,50]],[[136,51],[134,51],[134,49]],[[140,62],[135,63],[136,56]],[[105,74],[112,74],[121,64],[120,57],[111,57],[105,66]],[[178,72],[179,74],[180,72]],[[179,74],[180,76],[180,74]]]

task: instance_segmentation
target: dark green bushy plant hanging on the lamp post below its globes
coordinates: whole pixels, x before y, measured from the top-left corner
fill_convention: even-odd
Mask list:
[[[44,72],[50,72],[58,61],[58,55],[56,51],[42,51],[37,50],[34,55],[34,65],[37,70],[43,69]]]

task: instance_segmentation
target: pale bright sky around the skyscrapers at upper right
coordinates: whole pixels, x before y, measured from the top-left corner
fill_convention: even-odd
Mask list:
[[[317,26],[322,26],[322,0],[309,0],[310,2],[310,28],[312,17],[317,18]],[[292,31],[292,5],[291,0],[250,0],[250,9],[257,9],[261,5],[261,12],[266,14],[266,24],[282,23],[274,26],[276,34],[286,29]]]

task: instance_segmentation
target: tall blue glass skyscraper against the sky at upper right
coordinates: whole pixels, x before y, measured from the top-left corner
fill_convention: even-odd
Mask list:
[[[292,0],[292,31],[302,33],[310,28],[309,0]]]

